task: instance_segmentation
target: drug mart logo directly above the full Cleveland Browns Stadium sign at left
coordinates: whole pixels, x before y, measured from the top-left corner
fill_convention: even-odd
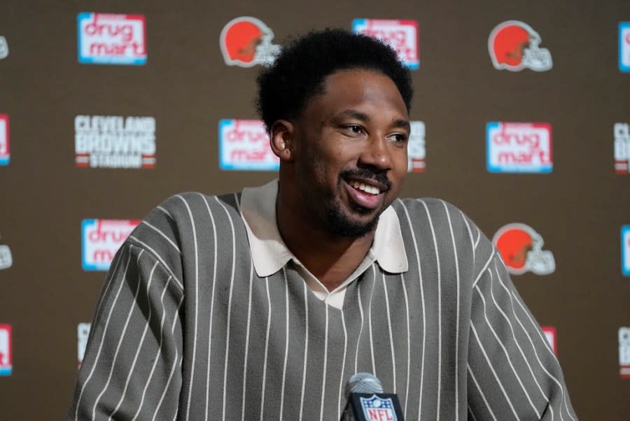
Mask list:
[[[79,13],[78,61],[85,64],[145,64],[143,15]]]

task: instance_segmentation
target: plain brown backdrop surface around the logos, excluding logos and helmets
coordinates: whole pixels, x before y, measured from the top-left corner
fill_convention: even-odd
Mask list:
[[[141,14],[147,62],[80,64],[80,12]],[[17,1],[0,4],[0,114],[10,119],[10,163],[0,166],[0,324],[13,329],[13,373],[0,376],[0,418],[59,419],[77,373],[77,326],[90,322],[104,272],[83,271],[81,221],[137,219],[171,194],[260,185],[273,172],[222,171],[217,124],[255,119],[260,66],[227,66],[223,26],[253,16],[272,43],[311,28],[351,29],[355,18],[416,20],[420,68],[412,120],[426,124],[426,172],[404,196],[441,197],[493,234],[524,222],[545,239],[556,271],[514,283],[541,324],[556,327],[560,362],[584,420],[627,420],[630,379],[619,376],[619,327],[630,326],[630,279],[620,228],[630,224],[630,174],[613,168],[615,122],[630,123],[630,73],[617,65],[617,25],[630,2],[349,1],[297,3]],[[548,48],[550,71],[498,71],[487,41],[521,20]],[[154,169],[75,164],[76,115],[155,118]],[[486,122],[548,122],[548,174],[486,171]]]

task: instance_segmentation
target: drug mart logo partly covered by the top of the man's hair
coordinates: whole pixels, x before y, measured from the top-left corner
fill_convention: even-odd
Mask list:
[[[352,31],[385,41],[396,50],[400,60],[409,69],[420,67],[418,22],[415,20],[355,19],[352,21]]]

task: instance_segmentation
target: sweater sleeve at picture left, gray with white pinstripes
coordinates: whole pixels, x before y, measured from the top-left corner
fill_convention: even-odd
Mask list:
[[[111,264],[67,420],[172,420],[181,389],[181,283],[127,241]]]

